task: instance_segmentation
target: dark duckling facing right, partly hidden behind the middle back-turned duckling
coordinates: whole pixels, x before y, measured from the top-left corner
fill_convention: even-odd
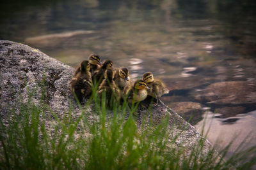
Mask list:
[[[113,62],[111,60],[104,60],[102,67],[92,74],[93,83],[96,82],[99,85],[102,79],[104,79],[104,73],[107,69],[113,69]]]

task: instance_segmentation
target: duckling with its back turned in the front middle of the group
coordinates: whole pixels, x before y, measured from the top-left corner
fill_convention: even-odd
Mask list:
[[[120,90],[116,87],[116,83],[113,80],[115,72],[112,69],[107,69],[104,73],[104,80],[100,83],[98,94],[100,99],[103,92],[106,92],[106,106],[113,108],[114,103],[120,101]]]

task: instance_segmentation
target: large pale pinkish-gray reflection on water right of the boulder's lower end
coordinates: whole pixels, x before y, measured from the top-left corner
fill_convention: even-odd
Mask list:
[[[215,118],[212,119],[212,116],[215,116]],[[245,148],[243,149],[255,145],[256,136],[250,135],[250,138],[247,137],[248,134],[253,134],[256,129],[256,110],[247,114],[236,115],[236,117],[225,118],[224,120],[223,118],[218,118],[218,116],[218,114],[213,114],[212,112],[205,112],[205,120],[196,124],[195,127],[200,131],[204,127],[204,131],[208,132],[207,137],[217,148],[223,148],[223,146],[227,146],[232,141],[233,145],[230,146],[228,157],[236,152],[237,146],[244,140]]]

